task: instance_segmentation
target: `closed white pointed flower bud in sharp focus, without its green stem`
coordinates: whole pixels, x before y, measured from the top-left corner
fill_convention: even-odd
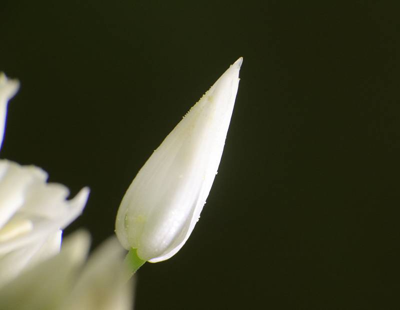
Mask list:
[[[240,57],[189,110],[127,189],[115,232],[142,260],[168,259],[193,230],[221,159],[241,62]]]

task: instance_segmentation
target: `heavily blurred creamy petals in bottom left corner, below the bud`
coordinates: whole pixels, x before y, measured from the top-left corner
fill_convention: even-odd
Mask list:
[[[67,237],[58,255],[2,287],[0,309],[130,310],[132,282],[126,282],[124,249],[112,237],[84,265],[88,248],[85,231]]]

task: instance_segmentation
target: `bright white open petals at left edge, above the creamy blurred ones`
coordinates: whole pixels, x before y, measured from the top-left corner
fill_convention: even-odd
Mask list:
[[[17,88],[16,80],[0,73],[0,143],[7,102]],[[0,159],[0,286],[23,268],[58,253],[61,229],[86,203],[88,188],[66,200],[68,189],[46,180],[47,173],[38,167]]]

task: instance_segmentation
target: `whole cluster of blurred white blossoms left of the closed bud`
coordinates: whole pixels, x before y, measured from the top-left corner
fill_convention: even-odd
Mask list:
[[[7,103],[18,81],[0,73],[0,146]],[[62,229],[83,210],[89,189],[72,199],[62,184],[47,183],[33,165],[0,159],[0,309],[131,309],[124,249],[115,237],[85,263],[89,235],[62,246]]]

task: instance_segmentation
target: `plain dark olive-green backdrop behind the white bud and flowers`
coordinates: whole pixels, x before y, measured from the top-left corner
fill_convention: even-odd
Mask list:
[[[136,309],[398,309],[398,1],[1,1],[1,157],[74,194],[97,245],[152,150],[244,57],[189,240]]]

